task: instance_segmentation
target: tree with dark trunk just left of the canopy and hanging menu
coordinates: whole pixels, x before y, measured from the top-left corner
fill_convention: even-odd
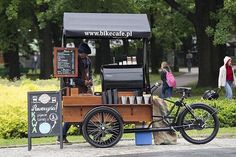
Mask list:
[[[48,79],[52,75],[53,47],[60,46],[63,12],[69,4],[71,3],[68,0],[35,0],[32,6],[40,47],[41,79]]]

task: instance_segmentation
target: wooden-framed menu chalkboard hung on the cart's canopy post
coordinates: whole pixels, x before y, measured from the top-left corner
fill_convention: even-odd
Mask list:
[[[54,48],[54,76],[77,77],[78,76],[78,49]]]

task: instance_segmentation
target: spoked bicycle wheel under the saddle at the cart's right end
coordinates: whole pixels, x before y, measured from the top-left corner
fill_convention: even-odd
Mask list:
[[[180,132],[184,139],[194,144],[205,144],[213,140],[219,130],[216,111],[205,104],[192,104],[179,117]]]

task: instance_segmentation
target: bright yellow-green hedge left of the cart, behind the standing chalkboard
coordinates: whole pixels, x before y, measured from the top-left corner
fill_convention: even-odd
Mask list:
[[[58,90],[59,82],[52,80],[22,79],[9,82],[0,79],[0,137],[27,136],[27,92]]]

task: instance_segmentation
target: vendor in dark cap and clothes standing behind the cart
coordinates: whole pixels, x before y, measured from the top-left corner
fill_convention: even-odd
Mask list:
[[[92,66],[88,54],[91,54],[91,49],[86,43],[81,43],[78,48],[78,78],[75,79],[75,85],[79,88],[79,93],[92,93]],[[69,143],[67,140],[67,131],[72,123],[65,122],[63,126],[63,143]],[[59,137],[57,143],[60,143]]]

